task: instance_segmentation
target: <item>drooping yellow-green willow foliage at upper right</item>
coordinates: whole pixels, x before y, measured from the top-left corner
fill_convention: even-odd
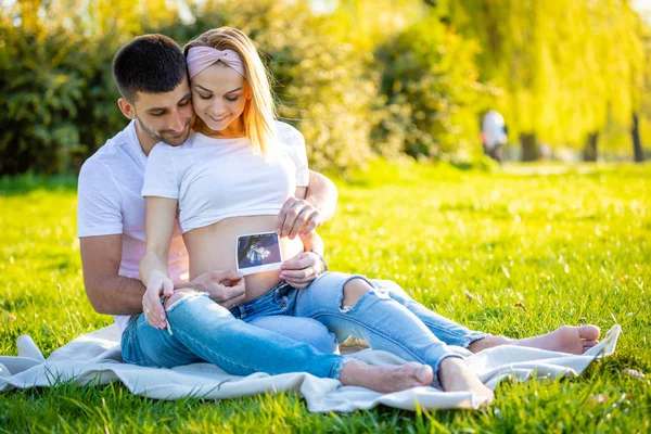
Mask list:
[[[480,41],[481,80],[526,159],[538,139],[579,146],[609,123],[629,126],[639,106],[639,17],[627,0],[460,0],[446,18]]]

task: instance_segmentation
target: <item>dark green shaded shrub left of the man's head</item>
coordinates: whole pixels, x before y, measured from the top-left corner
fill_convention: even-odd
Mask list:
[[[23,27],[1,20],[0,175],[69,173],[124,128],[111,72],[119,42],[63,22]]]

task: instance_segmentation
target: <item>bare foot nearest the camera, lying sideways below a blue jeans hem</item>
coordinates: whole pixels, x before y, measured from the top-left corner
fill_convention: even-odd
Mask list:
[[[340,374],[340,381],[344,385],[361,386],[382,393],[429,386],[433,380],[432,367],[417,362],[399,367],[378,367],[353,360],[344,365]]]

